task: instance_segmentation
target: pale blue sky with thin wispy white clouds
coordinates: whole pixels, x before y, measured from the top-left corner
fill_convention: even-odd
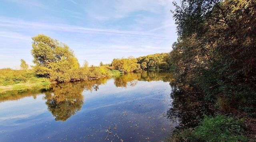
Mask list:
[[[80,64],[170,52],[172,0],[0,0],[0,68],[33,65],[32,37],[66,43]]]

